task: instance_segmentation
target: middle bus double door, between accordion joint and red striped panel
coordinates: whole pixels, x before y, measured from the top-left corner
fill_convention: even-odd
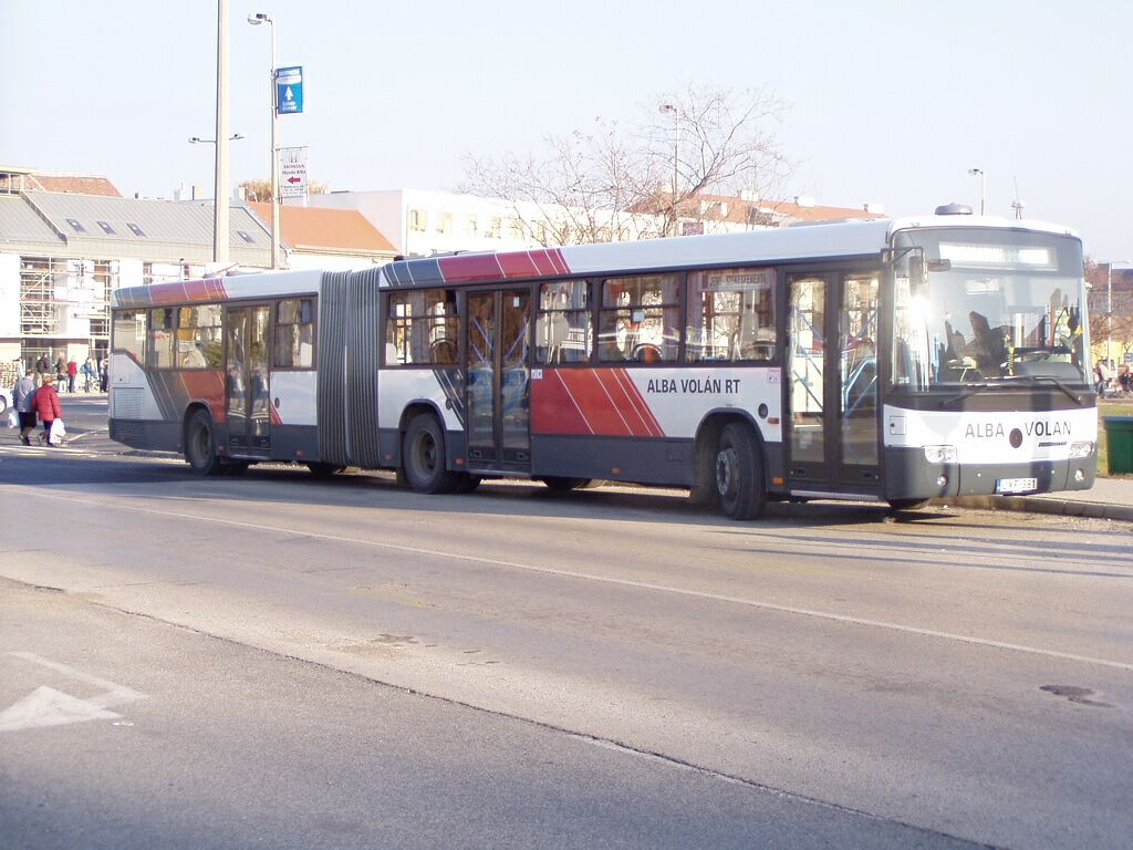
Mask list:
[[[528,290],[471,292],[465,350],[470,471],[531,468]]]

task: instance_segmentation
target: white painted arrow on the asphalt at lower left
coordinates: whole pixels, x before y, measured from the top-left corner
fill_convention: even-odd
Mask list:
[[[109,711],[111,706],[133,703],[144,699],[145,694],[127,688],[122,685],[96,675],[84,673],[58,661],[44,658],[42,655],[26,652],[8,653],[17,658],[40,664],[49,670],[75,679],[85,685],[100,688],[103,692],[86,699],[73,697],[61,690],[41,686],[23,697],[14,705],[0,712],[0,732],[15,732],[20,729],[35,729],[41,726],[61,726],[68,723],[83,723],[91,720],[113,720],[121,715]]]

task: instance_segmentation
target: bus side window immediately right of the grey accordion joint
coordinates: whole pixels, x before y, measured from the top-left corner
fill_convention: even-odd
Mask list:
[[[385,320],[385,365],[457,363],[457,292],[419,289],[391,292]]]

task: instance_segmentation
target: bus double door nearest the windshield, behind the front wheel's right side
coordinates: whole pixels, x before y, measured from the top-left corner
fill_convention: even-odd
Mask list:
[[[791,274],[789,487],[879,494],[880,272]]]

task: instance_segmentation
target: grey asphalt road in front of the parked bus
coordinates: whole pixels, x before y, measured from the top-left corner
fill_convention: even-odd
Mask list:
[[[15,847],[1127,845],[1126,526],[201,479],[80,407],[0,445]]]

